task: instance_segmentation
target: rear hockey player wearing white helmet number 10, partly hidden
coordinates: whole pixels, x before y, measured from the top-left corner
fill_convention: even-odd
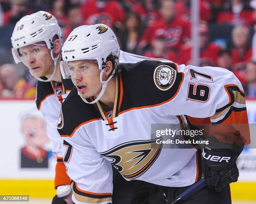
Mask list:
[[[62,202],[59,198],[69,201],[71,180],[63,163],[62,139],[56,130],[56,124],[61,104],[74,84],[70,79],[63,80],[59,69],[62,47],[61,29],[53,15],[39,11],[17,22],[11,41],[15,62],[23,62],[29,68],[31,75],[38,80],[36,105],[44,114],[47,133],[53,141],[53,152],[57,156],[54,202]],[[144,59],[145,57],[121,51],[121,62],[138,62]]]

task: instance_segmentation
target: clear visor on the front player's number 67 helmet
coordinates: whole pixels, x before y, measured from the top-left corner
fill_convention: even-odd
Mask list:
[[[95,59],[61,61],[60,69],[63,79],[72,78],[74,80],[77,77],[93,76],[100,73],[98,62]]]

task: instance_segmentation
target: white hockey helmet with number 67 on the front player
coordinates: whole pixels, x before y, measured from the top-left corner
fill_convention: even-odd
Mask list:
[[[69,71],[69,62],[76,60],[97,60],[100,69],[100,82],[102,83],[102,90],[100,95],[92,102],[88,102],[78,93],[82,100],[86,103],[95,103],[100,100],[100,97],[105,92],[108,81],[115,74],[115,65],[113,65],[113,72],[108,77],[108,80],[103,81],[102,75],[106,67],[107,57],[110,55],[118,57],[116,63],[118,64],[120,56],[120,47],[118,45],[117,37],[113,30],[104,24],[82,25],[75,28],[68,36],[62,47],[62,59],[60,63],[61,75],[64,79],[72,78]]]

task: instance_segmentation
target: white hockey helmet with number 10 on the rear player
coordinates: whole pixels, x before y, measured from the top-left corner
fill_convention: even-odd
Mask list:
[[[18,49],[26,45],[35,44],[36,42],[44,41],[46,46],[50,50],[51,58],[54,60],[54,72],[47,80],[43,80],[41,77],[34,76],[39,81],[48,82],[56,72],[56,67],[60,53],[57,57],[54,57],[52,42],[53,37],[57,35],[62,45],[62,33],[61,28],[58,25],[56,18],[46,11],[38,11],[31,15],[26,15],[21,18],[15,25],[11,42],[13,45],[12,53],[14,61],[17,63],[22,62]],[[31,75],[33,72],[30,70]]]

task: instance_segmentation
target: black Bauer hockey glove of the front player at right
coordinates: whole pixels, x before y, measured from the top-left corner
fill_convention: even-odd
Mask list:
[[[223,145],[223,143],[220,143]],[[230,146],[230,144],[228,144]],[[216,147],[216,146],[215,146]],[[243,147],[236,145],[232,149],[213,149],[205,147],[202,152],[202,170],[208,187],[217,192],[232,182],[237,182],[239,171],[236,160]]]

